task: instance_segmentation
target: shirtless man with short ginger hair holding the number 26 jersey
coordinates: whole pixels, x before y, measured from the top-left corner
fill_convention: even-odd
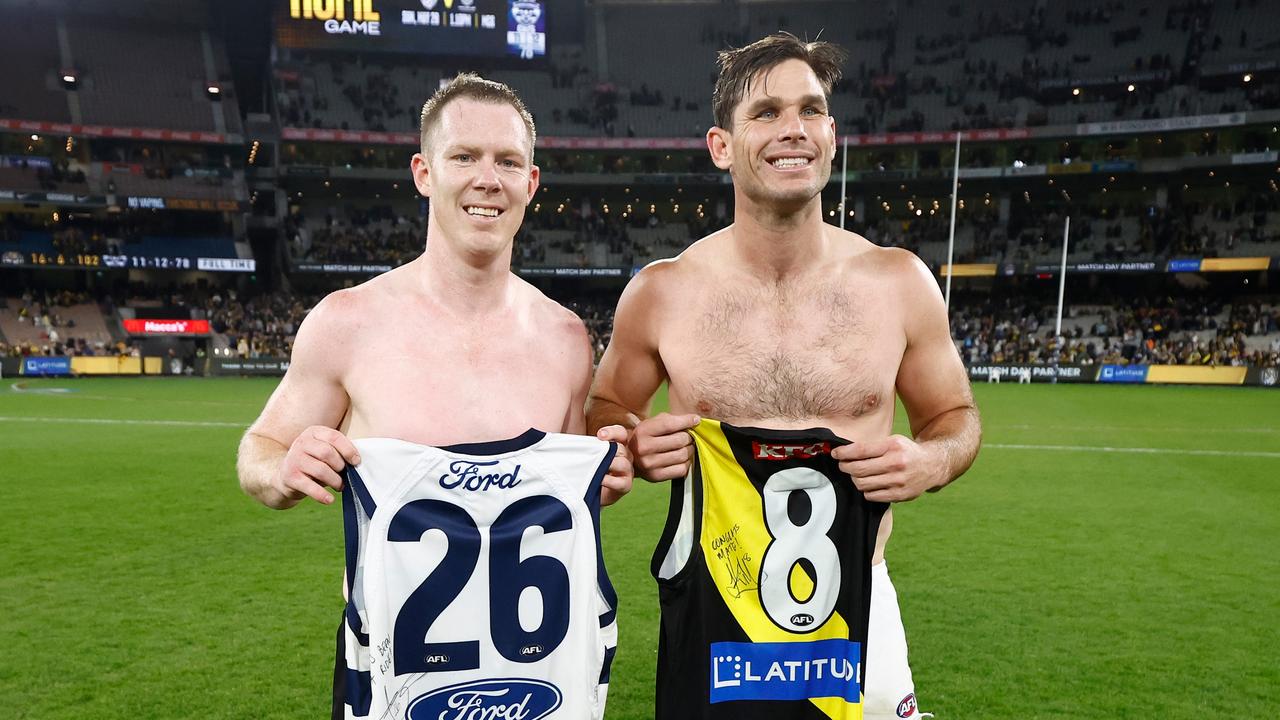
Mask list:
[[[421,128],[411,169],[431,201],[426,249],[329,295],[302,323],[289,370],[239,446],[241,487],[268,507],[332,505],[339,473],[361,462],[352,439],[442,447],[530,428],[585,433],[586,328],[511,273],[512,240],[538,191],[532,118],[509,87],[463,74],[426,102]],[[596,437],[625,441],[626,430]],[[602,502],[630,487],[620,448]],[[340,638],[334,717],[344,716]]]

